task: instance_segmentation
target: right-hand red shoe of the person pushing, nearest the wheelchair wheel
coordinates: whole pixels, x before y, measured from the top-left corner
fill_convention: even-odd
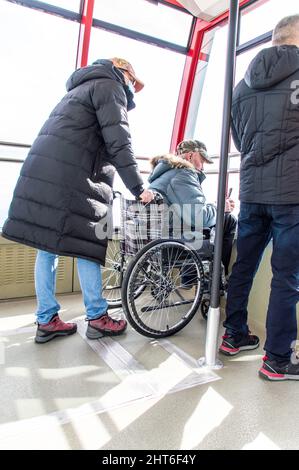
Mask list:
[[[88,321],[86,336],[89,339],[98,339],[103,336],[117,336],[121,335],[126,328],[126,320],[114,320],[106,313],[100,318]]]

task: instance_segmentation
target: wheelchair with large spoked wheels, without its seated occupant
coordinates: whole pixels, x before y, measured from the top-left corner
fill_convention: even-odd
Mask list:
[[[207,319],[214,229],[203,230],[195,250],[173,233],[163,238],[167,206],[161,195],[149,204],[117,198],[121,225],[109,241],[103,272],[109,308],[122,307],[131,326],[150,338],[179,332],[199,309]]]

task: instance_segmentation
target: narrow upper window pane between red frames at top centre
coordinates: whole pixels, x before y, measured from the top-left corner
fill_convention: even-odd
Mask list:
[[[145,0],[95,0],[94,18],[187,46],[192,16]]]

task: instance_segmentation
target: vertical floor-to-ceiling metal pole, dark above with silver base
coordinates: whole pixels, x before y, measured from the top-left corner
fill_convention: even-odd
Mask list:
[[[213,277],[211,289],[211,306],[208,314],[205,358],[201,364],[210,367],[221,367],[217,359],[218,331],[220,322],[220,276],[223,240],[224,208],[226,198],[226,177],[228,166],[229,132],[231,121],[232,93],[235,73],[236,42],[239,18],[239,0],[230,0],[228,43],[226,55],[226,74],[224,86],[224,104],[222,118],[222,137],[220,152],[220,171],[217,198],[217,222],[214,247]]]

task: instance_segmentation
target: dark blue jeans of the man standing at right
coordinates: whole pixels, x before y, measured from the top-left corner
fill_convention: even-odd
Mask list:
[[[246,335],[247,305],[264,249],[273,239],[272,282],[267,312],[265,350],[270,359],[289,359],[297,339],[299,301],[299,205],[241,203],[237,260],[229,279],[228,334]]]

